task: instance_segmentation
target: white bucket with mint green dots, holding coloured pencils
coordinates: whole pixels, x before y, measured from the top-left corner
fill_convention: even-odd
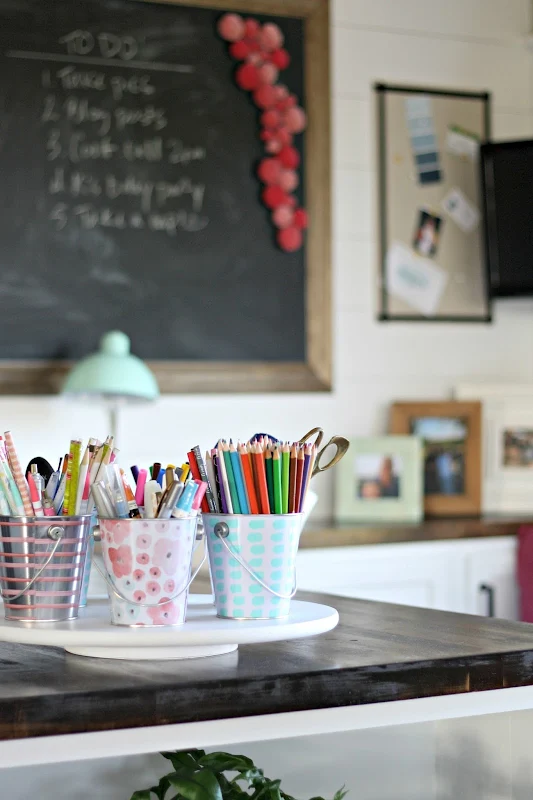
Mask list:
[[[204,514],[217,615],[287,617],[304,514]]]

